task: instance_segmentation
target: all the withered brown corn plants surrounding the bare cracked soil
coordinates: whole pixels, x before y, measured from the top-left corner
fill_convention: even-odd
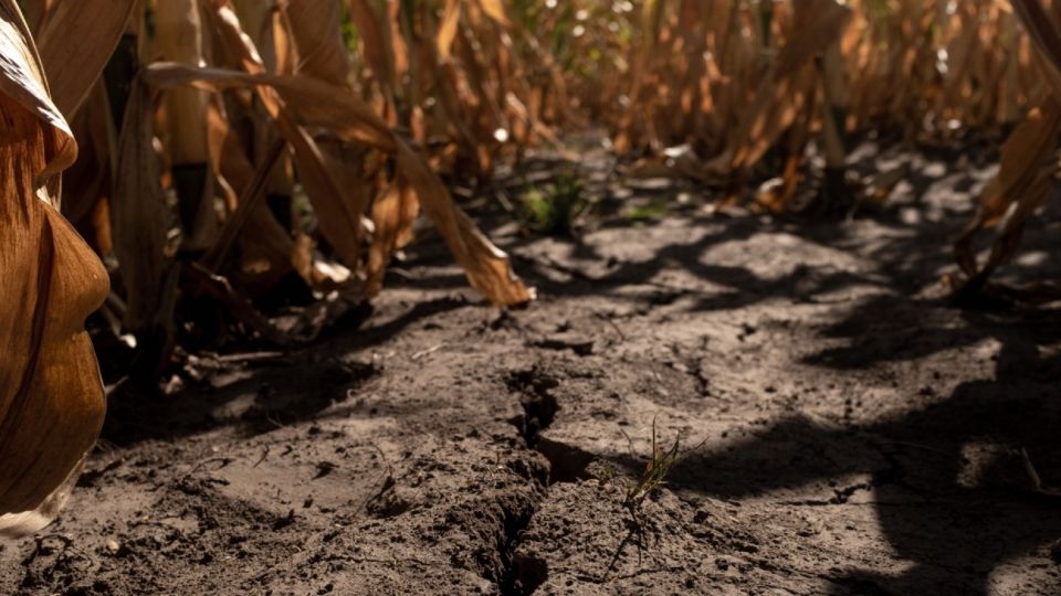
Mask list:
[[[46,523],[98,434],[86,318],[147,377],[304,344],[385,290],[421,219],[486,300],[525,305],[454,189],[589,126],[631,179],[830,216],[902,179],[855,179],[855,135],[1006,136],[949,281],[963,305],[1054,301],[990,277],[1055,194],[1059,24],[1040,0],[3,0],[3,523]],[[510,206],[569,234],[589,201],[575,173]],[[627,507],[677,457],[653,427]]]

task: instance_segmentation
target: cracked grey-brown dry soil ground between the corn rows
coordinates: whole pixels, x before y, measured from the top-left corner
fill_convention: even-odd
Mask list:
[[[841,225],[641,181],[577,242],[487,219],[527,309],[429,237],[359,328],[115,392],[0,593],[1061,594],[1061,498],[1026,469],[1061,485],[1061,316],[945,300],[991,168],[870,157],[913,169]],[[1057,273],[1059,233],[1007,275]],[[634,517],[653,423],[700,447]]]

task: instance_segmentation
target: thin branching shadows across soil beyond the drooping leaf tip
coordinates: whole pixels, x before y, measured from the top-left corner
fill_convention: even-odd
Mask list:
[[[627,299],[655,298],[672,300],[675,296],[665,286],[654,281],[664,270],[682,269],[710,284],[725,288],[721,292],[703,292],[697,297],[692,311],[737,309],[763,300],[790,297],[797,301],[815,301],[821,294],[837,291],[857,285],[872,285],[881,289],[910,295],[926,284],[938,280],[944,273],[954,269],[949,251],[950,242],[968,223],[973,213],[969,190],[983,180],[967,173],[949,172],[945,175],[928,175],[923,170],[935,162],[921,163],[907,178],[905,196],[894,205],[864,205],[853,222],[807,220],[791,216],[719,217],[697,213],[695,206],[675,207],[671,215],[687,221],[690,227],[707,231],[693,242],[675,242],[661,246],[650,258],[617,262],[601,254],[598,247],[577,238],[557,240],[564,246],[563,263],[557,259],[542,260],[528,256],[525,248],[537,242],[535,237],[517,237],[506,243],[521,273],[546,295],[557,297],[614,296],[614,290],[629,286],[656,286],[643,291],[624,291]],[[916,221],[904,220],[903,211],[924,211],[926,192],[953,195],[952,206],[947,200],[933,217],[920,216]],[[936,200],[937,202],[938,199]],[[607,202],[607,200],[606,200]],[[879,226],[883,233],[866,245],[863,222]],[[610,217],[598,223],[598,230],[629,227],[622,217]],[[852,273],[840,268],[812,269],[797,266],[773,278],[757,275],[753,267],[743,264],[705,262],[703,255],[727,243],[749,241],[759,235],[786,234],[813,243],[822,248],[858,253],[879,267],[872,275]],[[767,249],[784,251],[781,245]],[[768,256],[768,255],[760,255]],[[756,258],[755,256],[749,259]],[[607,265],[603,274],[589,273]],[[567,278],[557,280],[556,274]],[[689,292],[687,290],[684,290]],[[681,292],[681,291],[680,291]]]

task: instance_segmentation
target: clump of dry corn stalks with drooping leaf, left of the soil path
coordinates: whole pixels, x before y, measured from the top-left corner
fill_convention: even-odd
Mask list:
[[[465,111],[462,105],[479,106],[479,124],[458,121],[466,134],[452,138],[463,140],[441,147],[451,156],[460,156],[452,150],[464,147],[479,164],[472,171],[481,172],[490,167],[483,156],[492,152],[480,139],[487,136],[497,143],[496,131],[512,124],[505,120],[512,111],[497,108],[501,98],[508,97],[510,107],[519,102],[506,91],[507,84],[498,86],[496,95],[486,84],[495,76],[505,78],[502,75],[483,71],[471,83],[463,73],[451,77],[447,66],[452,63],[437,57],[437,44],[419,41],[420,35],[434,39],[434,14],[412,4],[397,7],[389,3],[377,12],[375,2],[350,2],[348,14],[368,32],[361,43],[377,73],[366,84],[351,67],[338,3],[243,2],[241,11],[256,23],[251,25],[255,34],[248,35],[225,0],[155,2],[155,39],[140,45],[176,61],[140,65],[127,99],[113,93],[99,106],[93,99],[94,110],[109,104],[114,111],[115,104],[123,105],[124,118],[113,155],[98,142],[106,131],[80,121],[86,139],[95,141],[88,143],[98,156],[95,161],[115,167],[109,183],[84,184],[76,211],[92,235],[106,241],[101,247],[113,246],[124,329],[137,336],[144,353],[159,359],[144,364],[165,365],[181,300],[220,300],[235,320],[284,343],[282,333],[254,310],[251,297],[270,291],[288,273],[315,290],[374,296],[391,255],[412,240],[412,223],[421,210],[487,299],[515,305],[532,298],[504,253],[475,230],[439,180],[435,171],[448,161],[431,150],[432,127],[426,120],[426,114],[437,116],[442,104],[454,114]],[[452,61],[458,52],[462,61],[479,60],[470,53],[469,23],[494,35],[508,24],[500,4],[475,7],[468,10],[468,23],[459,20]],[[253,38],[265,44],[265,52]],[[497,43],[507,47],[504,41]],[[411,78],[402,81],[412,83],[399,86],[397,73],[409,73]],[[426,110],[424,83],[417,77],[430,78],[439,97],[449,100]],[[462,94],[452,85],[472,85],[481,93]],[[182,136],[190,127],[197,134]],[[164,141],[160,152],[157,134]],[[181,183],[188,166],[202,174],[191,192]],[[106,196],[109,189],[113,196]],[[178,198],[176,210],[167,205],[169,189]],[[309,220],[293,217],[297,189],[312,206]],[[275,201],[277,196],[286,203]],[[93,204],[109,212],[109,231],[87,224],[96,211]],[[193,209],[182,209],[186,205]],[[179,247],[172,242],[178,226],[185,233]]]

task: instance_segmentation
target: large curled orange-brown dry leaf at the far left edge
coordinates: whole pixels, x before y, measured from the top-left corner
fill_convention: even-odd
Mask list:
[[[0,532],[30,532],[103,422],[84,320],[107,276],[49,190],[76,146],[14,0],[0,0],[0,287],[19,288],[0,298]]]

